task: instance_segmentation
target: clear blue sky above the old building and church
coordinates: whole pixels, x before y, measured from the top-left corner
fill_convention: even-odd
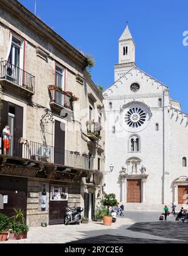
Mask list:
[[[34,12],[34,0],[20,0]],[[136,43],[137,67],[169,86],[172,99],[188,112],[188,1],[37,0],[36,15],[71,45],[91,53],[95,83],[113,83],[118,38],[128,20]]]

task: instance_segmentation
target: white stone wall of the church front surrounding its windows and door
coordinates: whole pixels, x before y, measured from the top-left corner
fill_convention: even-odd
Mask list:
[[[130,85],[135,82],[140,85],[140,89],[132,92]],[[159,99],[162,99],[163,104],[163,90],[164,116],[162,107],[159,107]],[[172,203],[174,179],[187,176],[187,167],[182,167],[182,157],[188,157],[186,154],[187,117],[175,109],[172,117],[172,110],[168,107],[170,97],[167,88],[138,68],[134,68],[115,82],[105,91],[104,96],[107,115],[105,191],[115,193],[118,201],[121,201],[120,171],[122,167],[127,168],[127,159],[138,157],[141,160],[140,165],[144,165],[148,174],[145,183],[145,203]],[[112,109],[109,102],[112,103]],[[140,102],[152,113],[149,124],[145,129],[141,129],[142,131],[128,132],[120,125],[123,107],[129,102],[133,104]],[[159,131],[155,131],[155,124],[159,124]],[[115,133],[112,132],[113,125],[115,125]],[[128,138],[131,134],[137,134],[140,137],[139,152],[129,151]],[[163,134],[165,134],[164,137]],[[109,168],[111,164],[114,166],[112,173]],[[131,169],[129,168],[128,171]]]

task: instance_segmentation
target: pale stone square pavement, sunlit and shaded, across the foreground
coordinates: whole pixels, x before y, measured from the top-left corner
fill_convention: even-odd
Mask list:
[[[160,213],[125,211],[112,226],[90,221],[80,225],[31,227],[28,238],[0,243],[188,243],[188,225],[175,221],[159,221]]]

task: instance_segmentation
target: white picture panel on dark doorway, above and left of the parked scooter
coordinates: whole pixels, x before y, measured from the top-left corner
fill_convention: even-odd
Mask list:
[[[50,200],[68,201],[68,188],[52,186],[50,191]]]

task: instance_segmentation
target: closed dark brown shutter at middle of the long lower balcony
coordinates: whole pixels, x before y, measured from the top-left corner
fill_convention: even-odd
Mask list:
[[[65,164],[65,124],[57,120],[55,120],[54,151],[55,164]]]

